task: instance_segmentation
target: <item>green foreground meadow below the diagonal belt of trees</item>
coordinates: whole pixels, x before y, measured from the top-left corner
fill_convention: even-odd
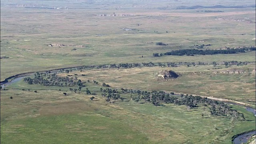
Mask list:
[[[255,127],[253,115],[237,106],[233,108],[251,121],[238,121],[231,129],[228,118],[202,118],[202,107],[188,112],[173,104],[136,104],[129,95],[113,104],[98,93],[94,101],[89,97],[70,92],[63,96],[58,90],[1,90],[1,143],[226,144]]]

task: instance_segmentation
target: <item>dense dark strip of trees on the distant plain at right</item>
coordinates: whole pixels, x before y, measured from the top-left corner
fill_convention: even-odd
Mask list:
[[[172,56],[194,56],[198,55],[212,55],[212,54],[236,54],[238,52],[254,51],[256,48],[230,48],[226,50],[197,50],[197,49],[184,49],[184,50],[172,50],[171,52],[166,52],[164,54],[153,54],[153,56],[163,56],[163,55],[172,55]]]

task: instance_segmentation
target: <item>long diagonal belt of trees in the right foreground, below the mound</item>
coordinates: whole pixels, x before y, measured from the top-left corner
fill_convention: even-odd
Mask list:
[[[131,100],[134,100],[136,103],[138,103],[140,100],[152,103],[154,106],[158,106],[159,104],[174,103],[177,105],[186,105],[188,111],[191,108],[201,105],[204,106],[204,109],[208,107],[212,116],[227,116],[230,118],[231,122],[238,118],[240,118],[240,120],[245,120],[243,114],[231,109],[227,104],[208,98],[202,98],[201,96],[192,96],[191,94],[180,94],[179,96],[175,96],[174,92],[168,93],[156,90],[152,90],[151,92],[129,90],[124,88],[121,88],[121,90],[122,94],[130,93]],[[204,117],[205,114],[206,113],[202,113],[202,117]]]

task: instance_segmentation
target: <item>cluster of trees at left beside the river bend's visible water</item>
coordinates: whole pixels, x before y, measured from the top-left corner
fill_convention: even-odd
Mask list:
[[[28,84],[40,84],[41,86],[74,86],[78,85],[80,87],[83,86],[81,80],[77,80],[76,78],[69,78],[57,76],[56,73],[47,74],[47,73],[39,73],[36,72],[34,74],[34,78],[26,77],[24,78],[24,82]]]

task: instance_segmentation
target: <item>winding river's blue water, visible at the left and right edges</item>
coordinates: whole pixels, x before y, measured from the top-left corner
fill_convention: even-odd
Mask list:
[[[31,76],[33,74],[28,74],[26,76]],[[26,76],[20,76],[20,77],[14,77],[10,82],[2,82],[1,83],[1,86],[2,88],[8,86],[8,85],[11,85],[15,82],[18,82],[20,80],[22,80],[24,77]],[[178,93],[176,93],[175,95],[178,95]],[[208,98],[211,98],[211,97],[208,97]],[[217,98],[214,98],[214,99],[217,99]],[[217,101],[221,101],[221,100],[217,100]],[[228,101],[223,101],[224,103],[226,104],[234,104],[234,105],[239,105],[239,106],[243,106],[242,104],[237,104],[237,103],[234,103],[234,102],[228,102]],[[248,107],[248,106],[245,106],[246,110],[248,112],[252,112],[254,114],[254,116],[256,116],[256,110],[254,108],[251,108],[251,107]],[[246,143],[250,138],[251,136],[255,135],[256,134],[256,131],[252,131],[252,132],[245,132],[245,133],[242,133],[242,134],[238,134],[237,137],[234,138],[233,140],[233,144],[242,144],[242,143]]]

